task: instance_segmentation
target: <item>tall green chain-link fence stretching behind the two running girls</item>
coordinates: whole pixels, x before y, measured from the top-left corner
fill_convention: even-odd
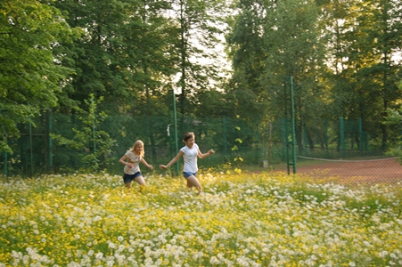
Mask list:
[[[80,170],[120,174],[119,158],[135,140],[144,142],[147,162],[158,166],[176,155],[177,148],[184,145],[183,135],[192,131],[201,151],[216,150],[213,157],[202,159],[202,167],[230,163],[251,171],[292,173],[291,164],[296,166],[296,173],[323,177],[364,176],[377,182],[402,177],[398,159],[385,154],[378,131],[361,118],[324,119],[310,125],[296,121],[295,162],[288,154],[292,145],[288,126],[285,118],[267,121],[257,114],[248,118],[177,116],[175,119],[173,112],[167,117],[113,114],[99,124],[85,125],[77,115],[46,111],[32,123],[19,125],[21,138],[9,136],[7,139],[13,153],[4,152],[0,160],[5,175],[32,176]],[[398,133],[399,129],[394,131]],[[78,133],[87,136],[81,136],[78,141]],[[110,139],[112,144],[107,149],[103,149],[105,139]],[[79,142],[81,146],[71,142]],[[95,156],[87,160],[86,157],[93,154]]]

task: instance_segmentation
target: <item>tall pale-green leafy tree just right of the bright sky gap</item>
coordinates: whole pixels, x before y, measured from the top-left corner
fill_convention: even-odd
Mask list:
[[[230,44],[234,50],[234,85],[268,103],[266,116],[284,116],[283,82],[293,77],[297,141],[324,115],[327,73],[320,12],[314,1],[240,1]],[[312,131],[310,131],[312,132]]]

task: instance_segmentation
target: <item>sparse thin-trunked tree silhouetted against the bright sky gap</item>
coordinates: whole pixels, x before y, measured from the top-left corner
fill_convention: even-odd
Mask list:
[[[220,43],[221,15],[226,9],[221,0],[174,0],[172,3],[179,36],[176,43],[179,55],[176,87],[181,90],[178,106],[185,115],[190,112],[194,93],[208,90],[209,81],[218,79],[217,66],[211,59],[215,57],[215,46]],[[201,59],[210,61],[202,64]]]

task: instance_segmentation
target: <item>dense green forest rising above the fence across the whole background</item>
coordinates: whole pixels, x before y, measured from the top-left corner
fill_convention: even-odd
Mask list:
[[[9,139],[44,110],[169,117],[176,97],[180,117],[279,121],[288,77],[296,132],[312,148],[316,122],[340,117],[362,119],[384,152],[398,143],[387,117],[402,103],[401,1],[3,0],[0,8],[4,152],[15,152]]]

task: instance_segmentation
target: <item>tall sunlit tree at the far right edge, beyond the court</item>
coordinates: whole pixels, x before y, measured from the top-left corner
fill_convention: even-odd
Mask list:
[[[365,79],[365,90],[369,91],[370,99],[363,105],[373,106],[373,100],[378,101],[377,116],[372,121],[377,120],[380,123],[378,128],[381,129],[381,150],[385,151],[390,136],[387,125],[382,122],[387,116],[388,109],[398,108],[399,96],[402,93],[398,89],[400,81],[398,63],[392,58],[393,53],[402,46],[400,35],[402,4],[391,0],[367,0],[357,4],[357,8],[365,14],[357,19],[359,26],[357,33],[362,36],[359,42],[362,46],[358,48],[365,62],[357,71],[357,79]]]

